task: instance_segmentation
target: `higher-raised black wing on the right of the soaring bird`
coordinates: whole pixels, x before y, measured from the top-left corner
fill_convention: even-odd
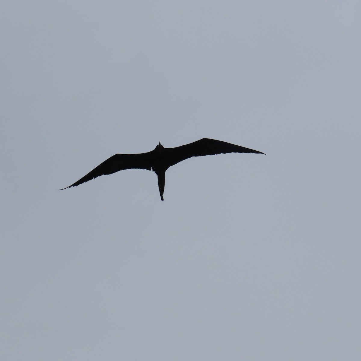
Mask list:
[[[221,140],[203,138],[197,140],[196,142],[181,145],[181,147],[168,148],[168,159],[167,165],[177,164],[182,160],[191,157],[200,157],[208,156],[221,153],[260,153],[262,152],[255,151],[253,149],[241,147],[240,145],[235,145],[231,143],[222,142]]]

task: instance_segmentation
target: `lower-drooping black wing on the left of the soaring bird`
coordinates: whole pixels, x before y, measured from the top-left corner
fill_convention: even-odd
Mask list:
[[[100,175],[112,174],[119,170],[124,169],[147,169],[151,170],[151,153],[141,153],[141,154],[116,154],[99,164],[96,168],[94,168],[87,175],[84,175],[83,178],[79,179],[79,181],[71,184],[69,187],[62,188],[70,188],[79,186],[79,184],[85,183],[99,177]],[[60,190],[60,191],[61,191]]]

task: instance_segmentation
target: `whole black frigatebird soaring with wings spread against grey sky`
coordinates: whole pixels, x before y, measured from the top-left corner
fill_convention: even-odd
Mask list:
[[[163,201],[165,171],[172,165],[191,157],[200,157],[206,155],[216,155],[221,153],[258,153],[255,151],[241,147],[221,140],[203,138],[196,142],[181,145],[175,148],[164,148],[159,144],[150,152],[138,154],[115,154],[112,157],[99,164],[96,168],[84,175],[79,181],[71,184],[69,187],[60,189],[60,191],[79,186],[79,184],[90,181],[91,179],[100,177],[101,175],[112,174],[119,170],[125,169],[147,169],[153,170],[158,176],[158,188],[160,198]]]

